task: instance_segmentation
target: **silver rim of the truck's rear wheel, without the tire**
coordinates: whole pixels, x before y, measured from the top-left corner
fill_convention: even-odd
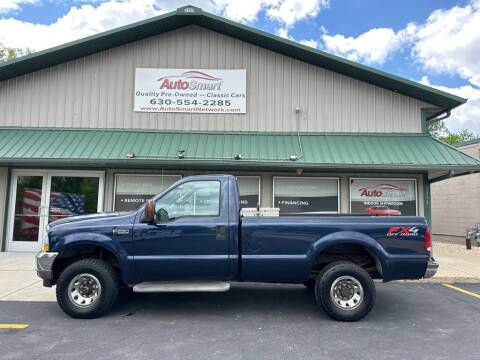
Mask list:
[[[342,310],[356,309],[363,302],[363,297],[362,284],[352,276],[341,276],[330,287],[330,298]]]

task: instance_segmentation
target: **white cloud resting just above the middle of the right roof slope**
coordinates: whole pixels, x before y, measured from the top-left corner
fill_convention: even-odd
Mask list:
[[[410,41],[413,27],[395,32],[390,28],[371,29],[357,37],[323,34],[326,51],[367,64],[383,64],[403,44]]]

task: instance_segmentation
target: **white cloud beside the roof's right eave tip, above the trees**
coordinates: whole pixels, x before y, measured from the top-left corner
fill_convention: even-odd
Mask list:
[[[432,85],[426,76],[422,77],[420,82],[467,99],[466,104],[452,111],[451,116],[446,120],[447,127],[453,132],[468,129],[474,134],[480,134],[480,88],[472,85],[456,88]]]

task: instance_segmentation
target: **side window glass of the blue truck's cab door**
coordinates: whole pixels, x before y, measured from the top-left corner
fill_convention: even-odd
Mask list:
[[[172,189],[155,202],[155,212],[164,209],[169,218],[219,216],[220,182],[190,181]]]

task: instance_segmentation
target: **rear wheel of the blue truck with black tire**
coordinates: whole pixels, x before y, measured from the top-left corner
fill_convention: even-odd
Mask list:
[[[342,277],[344,279],[339,280],[337,284],[342,284],[342,281],[344,284],[347,284],[345,291],[352,291],[351,294],[354,295],[346,295],[344,299],[350,299],[348,303],[352,305],[345,302],[342,306],[341,299],[338,300],[337,297],[337,301],[335,301],[335,295],[331,295],[332,285],[337,279]],[[355,281],[361,285],[361,288],[350,287],[350,285],[355,284]],[[341,289],[341,286],[338,288]],[[355,302],[356,296],[359,297],[358,303]],[[376,290],[372,278],[364,269],[351,262],[338,261],[328,264],[322,269],[315,283],[315,300],[317,304],[334,320],[357,321],[362,319],[372,310],[375,298]],[[347,306],[352,307],[346,308]]]

